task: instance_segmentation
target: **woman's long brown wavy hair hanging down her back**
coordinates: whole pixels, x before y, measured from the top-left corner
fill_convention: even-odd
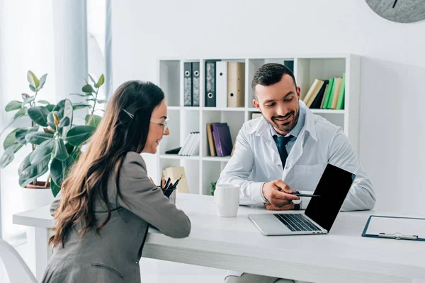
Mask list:
[[[86,232],[101,228],[111,219],[111,203],[108,200],[108,179],[113,173],[117,186],[117,200],[122,197],[119,189],[121,165],[128,151],[141,153],[145,147],[149,123],[154,108],[164,99],[161,88],[154,83],[128,81],[113,94],[101,124],[91,137],[86,152],[72,166],[62,183],[62,200],[55,212],[55,235],[49,244],[62,243],[67,232],[77,224],[80,239]],[[108,214],[97,225],[94,217],[96,197],[106,204]]]

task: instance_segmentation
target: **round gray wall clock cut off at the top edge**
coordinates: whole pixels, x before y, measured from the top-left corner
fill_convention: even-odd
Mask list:
[[[365,0],[382,18],[398,23],[425,19],[425,0]]]

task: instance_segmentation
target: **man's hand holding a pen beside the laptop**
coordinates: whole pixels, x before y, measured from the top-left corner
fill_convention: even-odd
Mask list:
[[[263,185],[263,196],[274,207],[283,207],[292,200],[300,200],[300,197],[291,195],[293,192],[296,190],[292,190],[283,180],[274,180]]]

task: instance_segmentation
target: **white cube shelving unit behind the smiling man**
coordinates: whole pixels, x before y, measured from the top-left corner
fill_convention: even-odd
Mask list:
[[[227,62],[245,63],[245,103],[242,108],[205,107],[205,61],[221,59]],[[283,64],[293,61],[294,75],[297,85],[301,87],[301,98],[312,85],[314,79],[329,79],[346,74],[346,93],[344,110],[312,109],[335,125],[344,129],[348,139],[358,152],[358,125],[360,108],[360,75],[361,57],[354,54],[314,54],[296,55],[280,54],[278,56],[253,57],[203,57],[180,58],[165,57],[158,60],[158,83],[165,93],[168,105],[170,135],[164,137],[157,154],[157,175],[169,166],[183,166],[188,180],[189,192],[210,195],[210,183],[216,181],[230,156],[208,156],[208,138],[206,124],[210,122],[227,122],[235,141],[239,129],[248,121],[251,112],[259,112],[253,107],[254,93],[251,90],[251,79],[261,65],[275,62]],[[200,106],[185,107],[183,105],[183,63],[200,62]],[[198,156],[179,156],[165,154],[183,144],[190,132],[200,132],[200,154]]]

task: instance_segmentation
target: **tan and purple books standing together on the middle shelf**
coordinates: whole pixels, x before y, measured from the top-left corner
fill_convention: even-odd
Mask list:
[[[210,156],[229,156],[232,154],[232,137],[227,123],[208,123],[207,137]]]

